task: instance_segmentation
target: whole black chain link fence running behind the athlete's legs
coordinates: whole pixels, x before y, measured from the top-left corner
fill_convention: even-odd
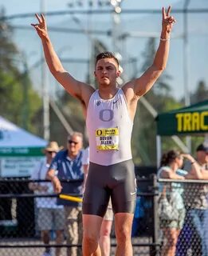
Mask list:
[[[33,194],[29,179],[0,180],[0,251],[7,255],[42,255],[45,245],[37,223],[37,198],[57,194]],[[43,182],[43,181],[35,181]],[[134,255],[208,255],[208,211],[206,181],[175,181],[137,178],[138,197],[132,225]],[[47,222],[46,218],[43,222]],[[50,247],[67,255],[69,245],[56,243],[56,232],[49,231]],[[112,228],[111,255],[116,238]],[[80,248],[80,244],[74,245]]]

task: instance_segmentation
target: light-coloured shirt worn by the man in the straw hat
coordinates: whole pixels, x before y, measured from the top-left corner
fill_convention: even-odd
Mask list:
[[[31,174],[31,179],[45,179],[47,170],[49,170],[49,164],[45,160],[39,162],[33,173]],[[53,194],[53,185],[51,182],[40,182],[41,186],[48,186],[47,191],[35,191],[35,194]],[[59,208],[62,209],[63,206],[57,206],[57,198],[36,198],[37,208]]]

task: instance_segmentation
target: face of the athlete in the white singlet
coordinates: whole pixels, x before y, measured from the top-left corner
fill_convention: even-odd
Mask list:
[[[116,85],[116,78],[120,76],[119,66],[113,58],[101,58],[96,62],[94,74],[99,85]]]

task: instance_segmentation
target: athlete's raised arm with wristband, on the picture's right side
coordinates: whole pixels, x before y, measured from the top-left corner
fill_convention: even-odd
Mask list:
[[[167,65],[167,58],[169,54],[169,44],[172,26],[175,23],[175,18],[170,15],[171,6],[168,7],[167,12],[163,7],[162,31],[160,35],[159,48],[155,54],[153,64],[143,73],[140,78],[135,78],[128,82],[125,86],[131,88],[131,95],[129,97],[137,96],[137,99],[146,94],[148,90],[154,85],[157,78],[162,74]],[[132,95],[133,94],[133,95]]]

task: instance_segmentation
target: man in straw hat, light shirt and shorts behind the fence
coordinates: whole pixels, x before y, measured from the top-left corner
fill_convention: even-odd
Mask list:
[[[61,150],[57,142],[49,142],[45,147],[45,159],[41,161],[31,175],[31,179],[44,180],[47,170],[56,156]],[[53,186],[51,182],[30,182],[29,189],[37,194],[52,194]],[[57,198],[36,198],[37,206],[37,226],[41,230],[41,239],[45,245],[49,245],[50,230],[56,231],[56,243],[63,242],[63,230],[65,226],[65,215],[63,206],[57,206]],[[61,248],[56,248],[56,256],[61,255]],[[45,248],[42,256],[51,256],[49,247]]]

